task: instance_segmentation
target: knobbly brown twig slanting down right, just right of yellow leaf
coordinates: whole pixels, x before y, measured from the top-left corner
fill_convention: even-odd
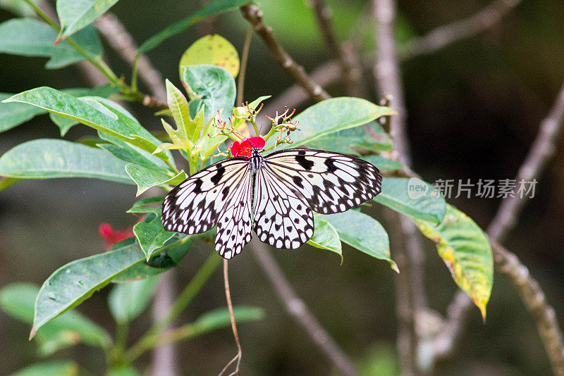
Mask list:
[[[300,84],[314,101],[319,102],[324,99],[329,99],[329,94],[327,94],[319,84],[314,82],[312,78],[305,73],[305,69],[302,65],[296,63],[293,58],[288,55],[288,52],[276,42],[276,39],[274,39],[272,35],[271,28],[266,27],[262,22],[262,11],[254,5],[244,5],[241,6],[240,9],[243,17],[249,21],[257,34],[264,40],[264,43],[266,43],[274,59],[290,73],[295,82]]]

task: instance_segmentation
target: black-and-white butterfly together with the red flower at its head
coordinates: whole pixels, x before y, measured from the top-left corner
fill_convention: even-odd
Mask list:
[[[378,168],[331,151],[286,149],[262,156],[262,137],[231,146],[233,158],[209,165],[168,193],[164,229],[198,234],[217,225],[215,249],[226,259],[250,242],[296,249],[314,233],[313,212],[341,213],[381,192]]]

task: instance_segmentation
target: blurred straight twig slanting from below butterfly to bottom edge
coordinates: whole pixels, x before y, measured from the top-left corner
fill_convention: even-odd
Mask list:
[[[319,349],[325,353],[327,358],[333,362],[333,365],[341,370],[344,375],[358,376],[358,371],[353,362],[347,358],[343,350],[339,348],[329,333],[319,324],[304,301],[295,294],[290,283],[284,277],[282,270],[270,255],[268,249],[266,249],[266,246],[257,240],[253,240],[251,245],[255,258],[266,273],[266,277],[269,278],[274,286],[274,289],[276,289],[278,298],[284,303],[286,311],[305,329],[309,337],[319,346]]]

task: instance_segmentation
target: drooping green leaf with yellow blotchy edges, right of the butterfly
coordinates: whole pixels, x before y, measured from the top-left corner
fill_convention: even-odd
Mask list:
[[[448,204],[439,225],[415,218],[413,222],[425,237],[436,243],[453,280],[470,296],[486,320],[486,305],[494,284],[494,258],[484,232],[465,213]]]

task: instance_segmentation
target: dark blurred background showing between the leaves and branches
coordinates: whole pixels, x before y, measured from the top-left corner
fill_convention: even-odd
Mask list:
[[[351,36],[362,54],[373,56],[374,20],[370,1],[327,0],[341,40]],[[397,38],[400,46],[411,37],[466,18],[489,0],[400,0]],[[118,15],[137,42],[190,15],[200,1],[120,1],[111,11]],[[264,21],[296,61],[311,71],[329,58],[317,23],[305,0],[262,0]],[[13,17],[0,10],[0,22]],[[248,23],[238,11],[216,18],[212,27],[240,52]],[[210,25],[195,25],[150,52],[154,65],[180,87],[178,61]],[[208,28],[208,29],[207,29]],[[213,29],[212,29],[213,30]],[[513,179],[548,113],[564,77],[564,6],[561,0],[523,0],[496,25],[470,39],[450,44],[436,53],[402,63],[407,104],[412,168],[424,180]],[[104,56],[114,71],[130,77],[130,68],[109,46]],[[44,58],[0,54],[0,92],[18,93],[42,85],[58,89],[85,87],[73,67],[45,70]],[[374,93],[372,71],[364,72]],[[252,39],[247,65],[245,100],[272,94],[293,84],[272,60],[264,43]],[[328,88],[333,96],[343,87]],[[379,101],[372,94],[372,100]],[[309,106],[311,103],[304,104]],[[160,121],[133,104],[133,115],[149,130]],[[282,109],[282,108],[281,108]],[[73,127],[64,137],[76,140],[94,131]],[[0,134],[0,154],[30,139],[59,138],[59,129],[47,115]],[[539,281],[564,327],[564,149],[537,184],[519,224],[505,245],[519,256]],[[125,213],[135,201],[135,187],[98,180],[27,180],[0,193],[0,287],[12,282],[42,284],[51,272],[77,258],[104,251],[99,223],[116,228],[133,225]],[[449,199],[482,228],[496,213],[499,199]],[[369,213],[381,219],[381,208]],[[384,223],[385,224],[385,223]],[[385,225],[386,227],[386,225]],[[456,288],[436,254],[425,245],[425,289],[431,308],[444,313]],[[178,268],[181,289],[200,268],[212,246],[197,243]],[[393,252],[393,244],[392,244]],[[326,327],[364,375],[397,375],[395,273],[383,261],[343,244],[343,265],[332,253],[303,246],[298,251],[274,251],[288,279],[314,315]],[[393,253],[392,253],[393,257]],[[243,346],[243,375],[328,375],[336,372],[307,334],[286,313],[250,252],[231,266],[233,303],[262,306],[266,318],[239,325]],[[113,320],[105,309],[109,289],[97,292],[78,308],[106,329]],[[188,322],[209,309],[225,305],[219,270],[178,322]],[[133,339],[149,327],[150,312],[132,327]],[[0,373],[9,374],[35,363],[35,344],[27,341],[30,327],[0,312]],[[138,332],[138,334],[137,334]],[[185,375],[213,375],[235,355],[231,329],[207,334],[178,345],[180,369]],[[56,353],[75,358],[92,374],[100,374],[102,351],[86,346]],[[149,356],[141,359],[142,364]],[[142,367],[140,367],[142,368]],[[536,327],[508,280],[496,274],[485,324],[475,308],[462,334],[461,345],[439,375],[548,375],[548,358]]]

